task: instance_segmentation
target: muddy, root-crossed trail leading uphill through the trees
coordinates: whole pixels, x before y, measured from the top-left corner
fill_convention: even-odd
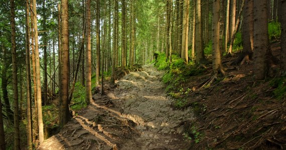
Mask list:
[[[116,81],[38,149],[186,149],[184,120],[192,110],[176,110],[160,81],[164,71],[146,65]]]

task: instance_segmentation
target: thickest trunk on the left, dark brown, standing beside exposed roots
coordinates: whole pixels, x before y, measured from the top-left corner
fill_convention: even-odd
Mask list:
[[[69,30],[68,0],[61,0],[61,49],[60,49],[60,125],[63,127],[70,120],[69,113]]]

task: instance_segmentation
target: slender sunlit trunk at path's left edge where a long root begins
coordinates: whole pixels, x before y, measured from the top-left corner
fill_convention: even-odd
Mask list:
[[[90,0],[85,1],[85,15],[86,15],[86,29],[85,29],[85,102],[90,103],[91,97],[91,37],[90,37],[90,24],[91,24],[91,14],[90,14]],[[96,64],[97,70],[97,64]],[[96,71],[97,72],[97,71]],[[97,75],[97,74],[96,74]]]

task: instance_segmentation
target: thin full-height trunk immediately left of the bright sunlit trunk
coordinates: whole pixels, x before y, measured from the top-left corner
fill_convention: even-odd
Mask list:
[[[30,66],[30,32],[29,32],[29,1],[26,0],[26,72],[27,72],[27,149],[33,149],[33,120],[32,120],[32,85]]]

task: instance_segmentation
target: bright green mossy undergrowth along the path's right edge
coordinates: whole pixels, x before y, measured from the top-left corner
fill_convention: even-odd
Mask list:
[[[191,76],[204,73],[206,69],[197,68],[192,62],[185,64],[184,59],[177,55],[172,55],[172,63],[170,63],[169,60],[166,61],[165,53],[160,53],[157,60],[155,66],[159,70],[166,70],[166,73],[162,77],[162,81],[168,84],[166,91],[169,96],[176,98],[173,106],[176,108],[184,108],[188,103],[184,95],[187,95],[192,89],[184,88],[182,84],[187,82]]]

